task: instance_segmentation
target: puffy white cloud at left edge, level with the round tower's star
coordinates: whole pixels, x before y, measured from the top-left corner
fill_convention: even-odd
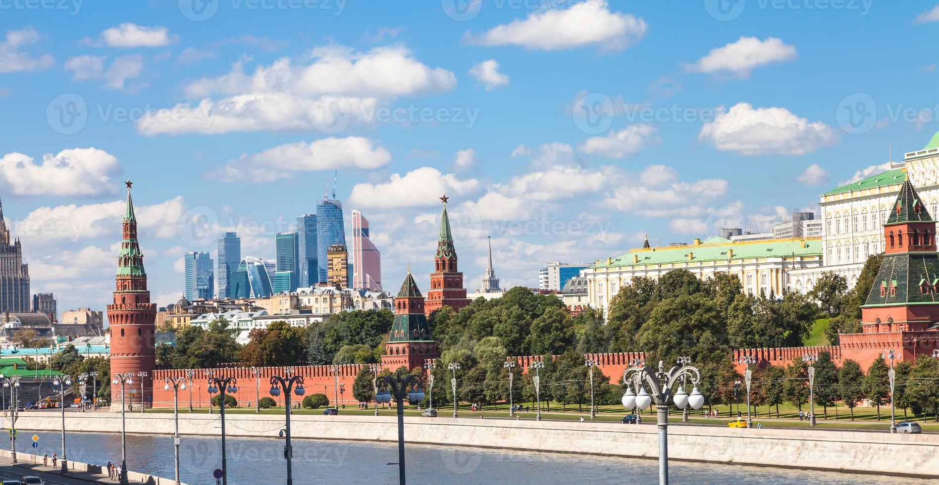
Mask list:
[[[17,195],[100,195],[114,193],[112,177],[121,163],[97,148],[72,148],[46,154],[41,163],[22,153],[0,159],[0,183]]]

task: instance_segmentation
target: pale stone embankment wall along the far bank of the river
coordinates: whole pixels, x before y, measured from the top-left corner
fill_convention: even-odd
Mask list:
[[[284,425],[275,415],[226,415],[230,436],[269,436]],[[218,415],[183,414],[180,432],[212,436],[219,433]],[[18,428],[56,431],[57,419],[46,413],[23,413]],[[171,434],[171,414],[128,414],[128,432]],[[67,418],[70,432],[119,432],[120,415],[75,413]],[[394,417],[295,416],[293,435],[330,440],[396,441]],[[477,447],[656,458],[655,426],[577,421],[516,421],[510,419],[405,417],[410,443],[471,444]],[[185,438],[183,438],[185,440]],[[796,466],[879,474],[934,476],[939,470],[939,435],[819,430],[737,430],[669,426],[669,454],[674,460]],[[889,460],[885,460],[889,457]]]

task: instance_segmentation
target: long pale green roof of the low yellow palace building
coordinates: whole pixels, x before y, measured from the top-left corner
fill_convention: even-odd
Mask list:
[[[731,250],[733,251],[731,256]],[[622,267],[644,265],[671,265],[727,261],[755,258],[821,256],[822,239],[767,239],[762,241],[731,242],[723,237],[712,237],[694,246],[631,250],[612,260],[608,265],[593,267]],[[634,263],[634,257],[636,261]],[[689,257],[690,256],[690,257]]]

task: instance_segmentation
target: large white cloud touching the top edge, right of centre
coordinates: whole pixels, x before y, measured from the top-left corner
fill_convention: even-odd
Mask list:
[[[541,9],[524,20],[498,25],[482,34],[467,32],[466,39],[472,44],[517,45],[542,51],[591,45],[601,51],[622,51],[638,42],[647,29],[639,17],[609,11],[607,0],[585,0],[566,9]]]

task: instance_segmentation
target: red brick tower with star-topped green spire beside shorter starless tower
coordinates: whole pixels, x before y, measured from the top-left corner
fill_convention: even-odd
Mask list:
[[[430,274],[430,289],[427,290],[425,313],[429,315],[444,306],[455,311],[469,305],[466,288],[463,287],[463,273],[456,269],[456,250],[454,235],[450,232],[450,218],[447,217],[447,199],[443,201],[443,213],[440,215],[440,235],[437,240],[437,255],[434,256],[434,272]]]

